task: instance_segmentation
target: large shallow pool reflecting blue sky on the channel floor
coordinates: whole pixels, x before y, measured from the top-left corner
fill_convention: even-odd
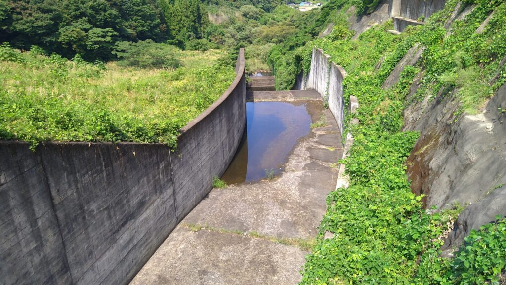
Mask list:
[[[305,103],[247,102],[246,131],[222,179],[227,184],[258,181],[266,171],[277,175],[299,138],[310,132]]]

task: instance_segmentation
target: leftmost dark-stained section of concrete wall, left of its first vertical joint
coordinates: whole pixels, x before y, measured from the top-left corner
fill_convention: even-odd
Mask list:
[[[0,283],[68,284],[44,164],[27,144],[0,144]]]

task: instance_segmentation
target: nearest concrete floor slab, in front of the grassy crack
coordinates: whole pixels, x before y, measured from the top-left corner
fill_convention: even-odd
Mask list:
[[[178,227],[131,285],[296,284],[305,254],[247,235]]]

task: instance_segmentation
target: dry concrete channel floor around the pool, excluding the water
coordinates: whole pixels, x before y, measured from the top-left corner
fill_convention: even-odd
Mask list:
[[[255,92],[249,101],[301,101],[311,129],[273,180],[214,189],[176,227],[131,285],[297,284],[338,179],[343,145],[315,91]]]

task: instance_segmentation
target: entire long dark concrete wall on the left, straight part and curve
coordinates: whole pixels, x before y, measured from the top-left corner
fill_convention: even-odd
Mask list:
[[[161,144],[0,142],[0,283],[125,284],[230,164],[244,52],[223,96]]]

